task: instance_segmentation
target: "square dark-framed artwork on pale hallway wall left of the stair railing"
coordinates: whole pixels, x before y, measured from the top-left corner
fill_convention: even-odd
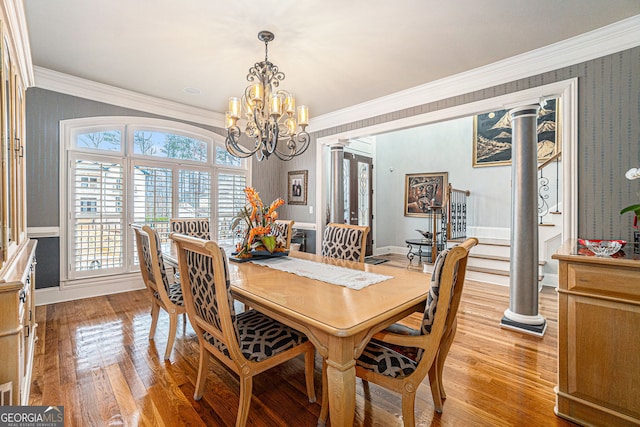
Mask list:
[[[432,207],[444,206],[448,179],[447,172],[405,175],[404,216],[428,217]]]

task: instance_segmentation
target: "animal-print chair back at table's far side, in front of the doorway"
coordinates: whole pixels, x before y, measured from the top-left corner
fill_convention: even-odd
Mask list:
[[[369,227],[327,224],[322,236],[322,256],[364,262]]]

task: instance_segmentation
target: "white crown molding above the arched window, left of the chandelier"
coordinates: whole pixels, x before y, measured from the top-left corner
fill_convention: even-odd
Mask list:
[[[224,114],[35,66],[35,87],[119,107],[224,128]]]

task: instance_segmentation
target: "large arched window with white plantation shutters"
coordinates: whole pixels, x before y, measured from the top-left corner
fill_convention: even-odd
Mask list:
[[[140,117],[65,120],[60,136],[63,281],[136,270],[130,223],[168,242],[170,218],[209,218],[215,240],[236,243],[229,225],[249,162],[230,156],[221,136]]]

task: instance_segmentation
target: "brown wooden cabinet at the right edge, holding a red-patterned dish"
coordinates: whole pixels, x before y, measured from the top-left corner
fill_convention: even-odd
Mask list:
[[[559,261],[556,414],[583,425],[640,425],[640,255]],[[619,254],[621,255],[621,254]]]

